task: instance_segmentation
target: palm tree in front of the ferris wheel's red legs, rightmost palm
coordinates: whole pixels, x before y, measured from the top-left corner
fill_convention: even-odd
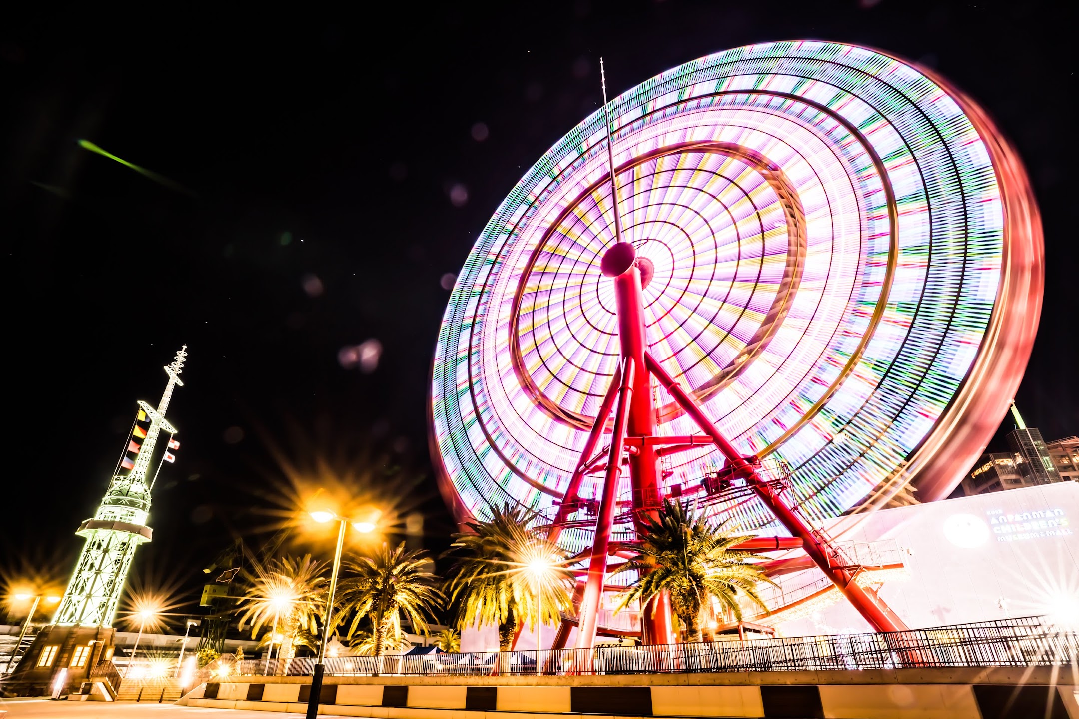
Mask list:
[[[756,584],[773,582],[747,562],[764,557],[732,550],[745,537],[724,534],[725,523],[712,526],[687,502],[665,499],[657,515],[644,521],[637,555],[618,568],[639,572],[626,587],[619,609],[633,600],[644,606],[660,592],[669,592],[671,609],[686,627],[686,641],[700,641],[701,609],[711,597],[739,620],[741,597],[767,611]]]

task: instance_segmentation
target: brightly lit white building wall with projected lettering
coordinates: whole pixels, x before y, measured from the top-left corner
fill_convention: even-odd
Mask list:
[[[996,492],[841,517],[838,541],[894,539],[911,577],[880,596],[911,628],[1055,614],[1079,621],[1079,484]],[[817,570],[783,577],[808,583]],[[866,632],[846,602],[786,622],[786,636]]]

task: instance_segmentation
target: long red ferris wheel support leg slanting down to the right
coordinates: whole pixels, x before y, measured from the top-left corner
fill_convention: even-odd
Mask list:
[[[689,395],[682,389],[682,386],[674,381],[667,371],[659,365],[651,355],[645,357],[651,374],[656,376],[678,402],[679,406],[696,423],[702,432],[712,438],[715,446],[727,458],[727,461],[743,476],[746,476],[756,493],[771,513],[779,520],[780,524],[787,527],[793,536],[802,539],[806,554],[820,567],[821,571],[832,580],[838,590],[855,606],[855,609],[865,618],[877,632],[902,632],[907,627],[903,620],[891,610],[891,608],[877,596],[876,592],[868,590],[855,581],[853,572],[838,566],[837,552],[823,541],[805,521],[796,514],[776,492],[765,483],[752,466],[738,453],[730,442],[715,428],[715,425],[705,415]]]

